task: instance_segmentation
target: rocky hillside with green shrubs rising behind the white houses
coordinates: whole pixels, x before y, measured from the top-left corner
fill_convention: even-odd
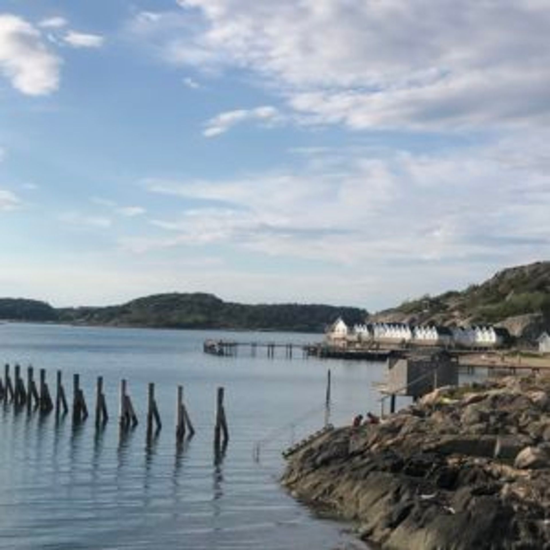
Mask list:
[[[371,322],[505,326],[516,337],[532,339],[550,328],[550,262],[498,272],[462,292],[423,296],[372,315]]]

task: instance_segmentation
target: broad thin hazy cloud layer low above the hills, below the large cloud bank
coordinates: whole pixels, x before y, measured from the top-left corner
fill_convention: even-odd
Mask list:
[[[224,244],[359,270],[403,264],[411,273],[419,262],[502,266],[546,257],[547,138],[434,155],[342,151],[331,171],[310,163],[219,182],[151,180],[152,193],[180,197],[183,208],[197,199],[207,206],[153,220],[167,235],[148,246]]]

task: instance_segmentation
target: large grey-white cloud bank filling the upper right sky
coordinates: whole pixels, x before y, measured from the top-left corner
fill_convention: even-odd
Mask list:
[[[139,27],[164,59],[252,72],[299,122],[462,129],[550,118],[547,0],[178,4],[179,15]]]

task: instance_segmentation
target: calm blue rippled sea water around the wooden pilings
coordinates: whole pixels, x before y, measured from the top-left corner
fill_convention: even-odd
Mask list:
[[[349,423],[379,410],[372,382],[383,366],[363,362],[216,357],[202,353],[208,337],[240,341],[315,342],[319,335],[160,331],[30,324],[0,325],[0,361],[46,368],[54,392],[63,371],[81,375],[90,418],[56,424],[0,407],[0,548],[286,548],[331,549],[350,544],[342,524],[317,518],[279,486],[281,450],[323,425],[327,368],[332,416]],[[94,426],[94,390],[104,377],[111,420]],[[140,423],[120,437],[118,384],[127,378]],[[163,429],[146,444],[148,382],[156,383]],[[176,387],[196,435],[175,444]],[[213,456],[216,387],[226,388],[230,441],[221,463]],[[267,439],[254,460],[254,445]],[[354,545],[355,547],[355,545]]]

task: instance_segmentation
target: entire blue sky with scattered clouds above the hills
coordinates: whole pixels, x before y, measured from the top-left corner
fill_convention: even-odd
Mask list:
[[[0,2],[0,295],[375,311],[550,256],[550,0]]]

